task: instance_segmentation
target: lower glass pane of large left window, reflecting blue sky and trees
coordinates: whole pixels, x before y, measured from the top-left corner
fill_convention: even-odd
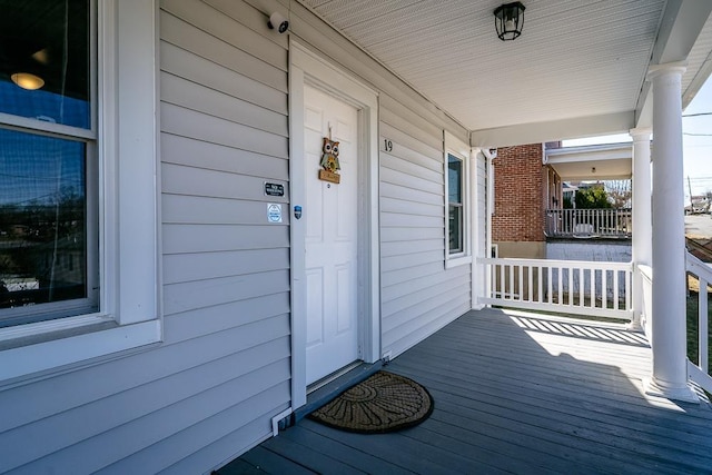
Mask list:
[[[0,144],[0,309],[87,298],[86,144],[12,130]]]

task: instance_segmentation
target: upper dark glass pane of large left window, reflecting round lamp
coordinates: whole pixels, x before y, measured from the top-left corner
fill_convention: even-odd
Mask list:
[[[0,112],[91,128],[89,2],[0,0]]]

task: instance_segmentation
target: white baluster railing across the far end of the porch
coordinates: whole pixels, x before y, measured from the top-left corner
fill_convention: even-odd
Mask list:
[[[487,268],[482,304],[630,320],[630,263],[479,258]]]

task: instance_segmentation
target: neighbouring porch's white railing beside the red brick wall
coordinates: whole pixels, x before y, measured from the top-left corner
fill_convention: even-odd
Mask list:
[[[546,236],[630,237],[633,226],[630,208],[547,209]]]

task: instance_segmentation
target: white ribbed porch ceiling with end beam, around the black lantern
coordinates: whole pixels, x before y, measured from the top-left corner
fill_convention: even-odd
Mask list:
[[[626,131],[651,58],[674,57],[661,42],[686,40],[685,28],[696,39],[712,10],[705,0],[524,0],[522,36],[501,41],[493,11],[508,0],[299,1],[493,146]],[[712,22],[690,58],[679,42],[683,86],[699,88]]]

